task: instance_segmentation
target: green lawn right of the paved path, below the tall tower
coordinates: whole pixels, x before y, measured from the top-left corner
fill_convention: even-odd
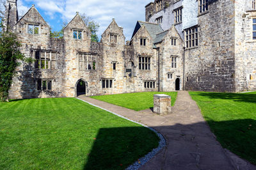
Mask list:
[[[256,92],[189,92],[224,148],[256,164]]]

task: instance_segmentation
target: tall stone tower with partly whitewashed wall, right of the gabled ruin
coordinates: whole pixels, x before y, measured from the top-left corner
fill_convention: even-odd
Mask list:
[[[146,20],[184,41],[184,89],[256,90],[255,0],[157,0]]]

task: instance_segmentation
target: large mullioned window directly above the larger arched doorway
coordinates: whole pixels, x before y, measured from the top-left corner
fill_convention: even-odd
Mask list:
[[[82,55],[82,61],[80,60],[80,55]],[[84,57],[85,56],[90,56],[92,61],[89,61],[88,57],[86,58],[86,61],[84,61]],[[97,58],[97,54],[96,53],[78,52],[79,71],[95,71],[95,70],[97,70],[96,58]],[[82,63],[82,68],[80,66],[80,63]],[[84,63],[86,63],[86,69],[83,69],[84,68]],[[89,65],[91,66],[91,69],[89,69]]]

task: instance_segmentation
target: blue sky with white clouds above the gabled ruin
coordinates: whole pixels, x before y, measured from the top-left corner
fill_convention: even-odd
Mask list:
[[[69,22],[76,12],[85,13],[99,23],[99,39],[112,22],[124,27],[125,40],[131,36],[137,20],[145,20],[145,6],[150,0],[18,0],[19,15],[24,15],[32,4],[54,31],[59,31],[63,21]]]

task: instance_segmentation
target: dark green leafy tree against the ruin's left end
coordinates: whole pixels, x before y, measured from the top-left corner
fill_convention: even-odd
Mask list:
[[[0,26],[3,28],[3,24]],[[25,58],[20,52],[20,42],[15,33],[10,31],[0,33],[0,98],[1,101],[8,102],[9,89],[12,85],[12,79],[17,73],[17,66],[20,61],[31,63],[33,59]]]

